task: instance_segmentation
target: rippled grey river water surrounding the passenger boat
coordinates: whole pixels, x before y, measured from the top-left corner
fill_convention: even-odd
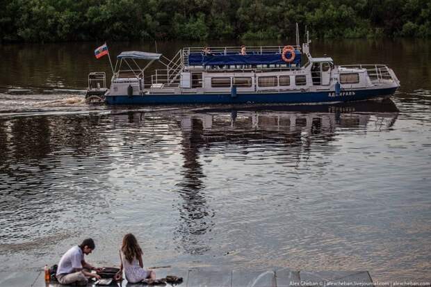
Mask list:
[[[431,42],[314,42],[335,63],[388,64],[402,86],[384,101],[296,107],[89,106],[61,89],[109,72],[95,47],[0,45],[0,270],[52,265],[86,237],[88,261],[117,264],[133,232],[147,266],[430,281]]]

